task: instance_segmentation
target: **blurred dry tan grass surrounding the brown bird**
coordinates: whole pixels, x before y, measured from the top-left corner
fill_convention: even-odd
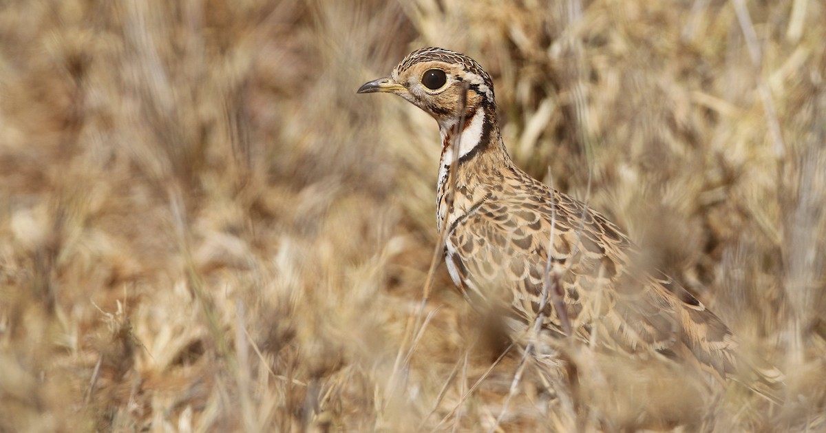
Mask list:
[[[706,430],[826,431],[824,22],[812,0],[4,2],[0,431],[487,431],[519,355],[468,393],[501,350],[444,268],[411,335],[438,128],[355,94],[427,45],[491,73],[517,164],[786,371],[780,410],[727,395]],[[525,378],[501,429],[615,426],[558,397]]]

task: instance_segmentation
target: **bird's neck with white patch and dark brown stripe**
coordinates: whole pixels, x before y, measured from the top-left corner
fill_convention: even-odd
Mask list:
[[[494,107],[477,107],[464,119],[462,127],[457,127],[458,123],[439,122],[442,136],[437,188],[439,231],[445,221],[450,224],[463,215],[463,210],[484,197],[487,180],[495,182],[496,173],[513,164],[502,143]],[[449,194],[452,190],[453,194]]]

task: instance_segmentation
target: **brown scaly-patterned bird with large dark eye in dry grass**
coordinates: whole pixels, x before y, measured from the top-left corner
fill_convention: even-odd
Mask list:
[[[476,60],[422,48],[357,93],[395,94],[438,123],[444,261],[472,306],[502,311],[508,335],[537,328],[545,341],[571,337],[602,354],[657,359],[714,386],[738,371],[738,342],[718,316],[648,269],[619,226],[510,159],[493,80]],[[553,344],[540,346],[553,354]]]

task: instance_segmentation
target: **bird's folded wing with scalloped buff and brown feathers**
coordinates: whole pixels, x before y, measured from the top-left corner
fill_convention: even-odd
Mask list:
[[[448,266],[468,297],[510,303],[525,323],[544,304],[544,326],[563,332],[566,324],[543,293],[549,269],[546,287],[557,290],[582,340],[696,363],[721,379],[733,371],[736,342],[717,316],[671,278],[631,264],[634,245],[605,217],[533,188],[539,191],[491,197],[454,225]]]

